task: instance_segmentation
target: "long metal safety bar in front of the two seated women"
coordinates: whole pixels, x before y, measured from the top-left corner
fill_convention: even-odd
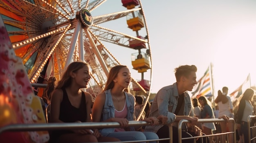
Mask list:
[[[128,126],[144,126],[152,125],[146,121],[129,121]],[[161,125],[161,124],[159,124]],[[145,141],[121,141],[115,143],[137,143],[137,142],[149,142],[149,141],[160,141],[160,140],[170,140],[173,143],[172,125],[168,125],[170,138],[165,139],[155,139],[155,140],[145,140]],[[31,123],[31,124],[11,124],[0,128],[0,134],[2,132],[21,132],[21,131],[43,131],[43,130],[67,130],[67,129],[88,129],[88,128],[118,128],[120,124],[118,122],[83,122],[83,123]]]

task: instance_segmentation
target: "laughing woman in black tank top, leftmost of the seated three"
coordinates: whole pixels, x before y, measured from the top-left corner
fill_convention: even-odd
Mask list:
[[[52,92],[52,123],[91,122],[92,97],[81,88],[86,88],[91,79],[89,65],[72,62]],[[51,134],[52,143],[115,142],[116,138],[103,137],[98,129],[58,130]]]

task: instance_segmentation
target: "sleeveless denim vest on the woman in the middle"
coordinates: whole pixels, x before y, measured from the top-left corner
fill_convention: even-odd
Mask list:
[[[115,118],[115,107],[113,104],[111,89],[105,91],[106,99],[105,104],[101,114],[101,121],[106,121],[110,118]],[[127,106],[127,120],[133,121],[134,114],[134,105],[135,105],[135,97],[130,93],[124,92],[126,97],[126,106]],[[135,131],[134,127],[130,127],[131,131]],[[99,130],[103,136],[107,136],[108,134],[115,131],[115,128],[104,128]]]

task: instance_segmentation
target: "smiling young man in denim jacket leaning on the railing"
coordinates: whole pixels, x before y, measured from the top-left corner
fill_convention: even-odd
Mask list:
[[[191,121],[190,128],[193,128],[194,132],[200,131],[200,129],[194,126],[197,123],[198,118],[194,117],[193,106],[191,105],[191,99],[187,91],[192,91],[193,86],[197,84],[196,66],[184,65],[175,68],[176,81],[174,84],[161,88],[151,105],[149,117],[158,117],[164,115],[168,117],[168,123],[173,123],[173,143],[178,141],[177,123],[181,119]],[[145,131],[151,131],[157,133],[159,139],[168,138],[168,126],[155,125],[146,126]],[[187,126],[182,127],[182,137],[191,137],[187,133]],[[182,142],[191,142],[193,140],[183,140]],[[168,140],[159,141],[159,143],[168,143]]]

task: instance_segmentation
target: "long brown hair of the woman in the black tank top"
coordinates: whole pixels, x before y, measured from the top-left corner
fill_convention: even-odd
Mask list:
[[[67,66],[67,69],[63,73],[61,80],[58,81],[56,89],[62,89],[70,86],[72,81],[70,73],[71,72],[76,73],[77,70],[83,68],[84,66],[89,66],[89,64],[85,62],[72,62],[71,64],[69,64]]]

